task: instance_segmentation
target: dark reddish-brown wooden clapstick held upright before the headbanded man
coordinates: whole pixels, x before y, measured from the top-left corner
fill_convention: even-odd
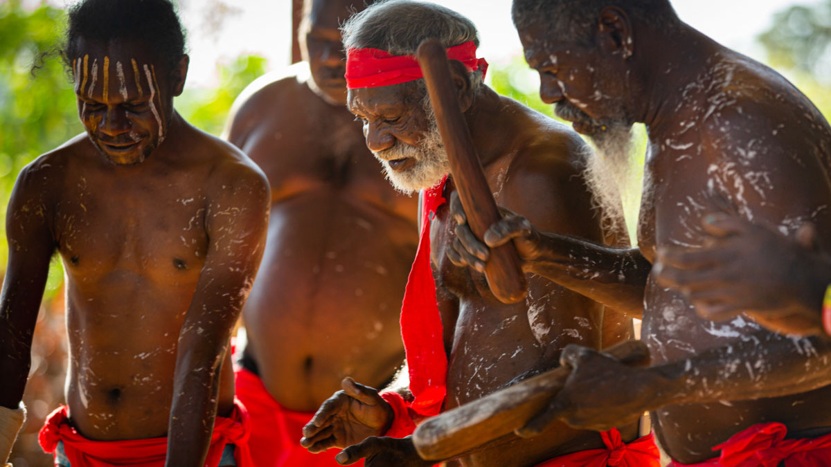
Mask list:
[[[470,230],[477,238],[483,238],[489,227],[502,219],[502,214],[491,194],[488,180],[484,178],[482,164],[459,107],[458,89],[450,75],[445,47],[435,39],[426,39],[418,47],[416,57],[424,73],[430,104],[450,159],[450,174],[465,207]],[[528,292],[513,242],[491,248],[484,276],[491,292],[501,302],[519,302]]]

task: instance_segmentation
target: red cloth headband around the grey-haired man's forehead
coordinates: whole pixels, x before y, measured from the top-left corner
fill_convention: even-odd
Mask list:
[[[488,62],[476,58],[476,44],[465,42],[447,49],[447,58],[465,64],[468,71],[488,71]],[[347,88],[381,87],[423,78],[416,57],[393,56],[378,49],[349,49],[347,52]]]

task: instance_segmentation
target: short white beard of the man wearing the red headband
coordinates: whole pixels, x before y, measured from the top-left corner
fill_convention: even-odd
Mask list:
[[[450,172],[450,161],[447,159],[447,150],[441,140],[439,125],[435,121],[435,114],[426,100],[425,111],[430,126],[417,145],[396,141],[396,145],[382,151],[372,151],[377,160],[384,167],[384,175],[392,186],[403,194],[413,194],[420,189],[434,187]],[[416,164],[403,172],[396,172],[390,167],[387,160],[411,158]]]

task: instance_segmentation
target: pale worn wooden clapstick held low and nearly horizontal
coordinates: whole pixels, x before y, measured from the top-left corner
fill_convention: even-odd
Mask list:
[[[627,365],[649,364],[641,341],[603,351]],[[448,460],[522,428],[563,389],[569,374],[561,366],[425,420],[413,434],[418,454],[424,460]]]

